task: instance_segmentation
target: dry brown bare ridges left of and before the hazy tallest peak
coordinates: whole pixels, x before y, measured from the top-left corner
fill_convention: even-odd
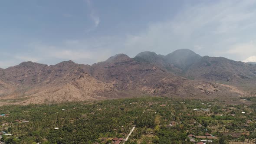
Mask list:
[[[49,66],[22,62],[20,65],[0,69],[0,105],[58,103],[141,95],[223,98],[247,94],[229,85],[178,76],[166,69],[163,59],[157,58],[154,61],[142,62],[125,54],[118,54],[93,65],[76,64],[72,61]],[[163,65],[159,62],[163,62]],[[176,65],[179,63],[174,62]],[[183,58],[181,63],[183,66],[177,69],[184,71],[184,67],[187,69],[188,66],[186,59]],[[192,70],[189,69],[189,72]]]

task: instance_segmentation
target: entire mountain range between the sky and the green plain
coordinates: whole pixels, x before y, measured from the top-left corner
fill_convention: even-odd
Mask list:
[[[0,69],[0,105],[60,103],[143,95],[256,96],[256,65],[178,49],[166,56],[117,54],[93,65],[22,62]]]

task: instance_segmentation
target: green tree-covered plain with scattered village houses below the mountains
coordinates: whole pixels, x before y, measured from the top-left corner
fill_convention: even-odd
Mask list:
[[[5,144],[253,144],[253,99],[132,98],[0,107]],[[35,114],[37,116],[35,117]],[[135,127],[136,125],[136,127]],[[79,136],[80,138],[74,139]],[[11,142],[10,142],[11,141]]]

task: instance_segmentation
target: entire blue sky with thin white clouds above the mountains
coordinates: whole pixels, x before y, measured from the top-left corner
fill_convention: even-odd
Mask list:
[[[255,33],[256,0],[1,0],[0,67],[176,49],[256,62]]]

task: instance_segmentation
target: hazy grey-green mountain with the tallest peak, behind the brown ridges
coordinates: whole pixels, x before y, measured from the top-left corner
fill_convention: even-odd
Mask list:
[[[256,65],[223,57],[201,57],[189,49],[179,49],[166,56],[141,52],[134,59],[138,62],[154,63],[162,69],[189,79],[228,82],[230,85],[256,82]]]

